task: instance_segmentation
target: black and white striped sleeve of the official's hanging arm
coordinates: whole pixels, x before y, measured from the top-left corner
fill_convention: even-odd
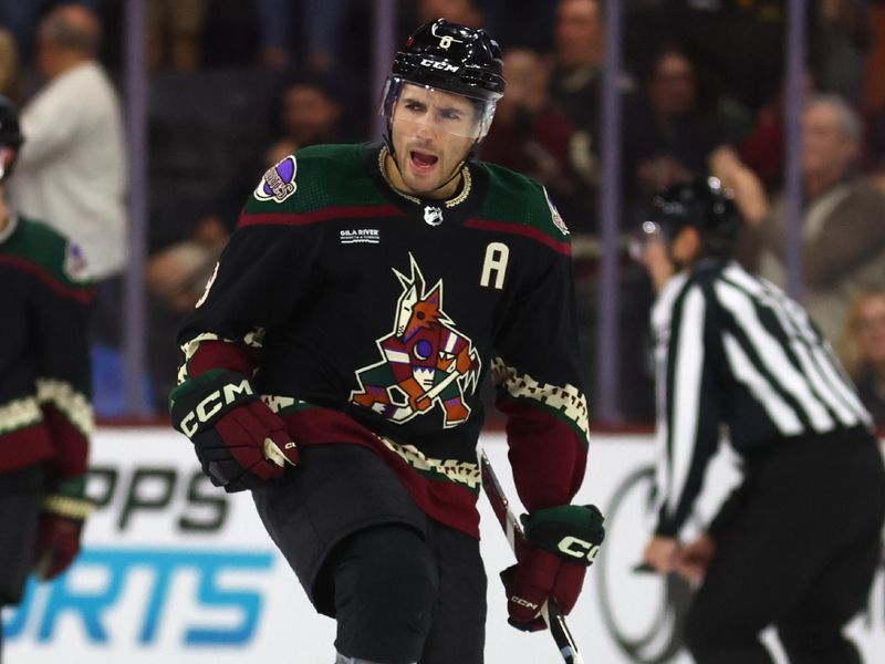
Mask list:
[[[719,444],[720,394],[709,349],[709,302],[689,286],[673,311],[658,366],[665,403],[657,430],[656,535],[677,537],[691,515]]]

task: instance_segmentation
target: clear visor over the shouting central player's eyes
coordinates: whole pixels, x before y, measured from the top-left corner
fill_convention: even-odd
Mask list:
[[[389,122],[479,141],[489,133],[494,102],[391,76],[378,113]]]

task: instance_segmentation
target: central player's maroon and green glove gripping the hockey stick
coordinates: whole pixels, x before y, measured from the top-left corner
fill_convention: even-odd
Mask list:
[[[581,594],[586,568],[605,537],[603,516],[593,506],[563,505],[523,515],[525,548],[519,562],[501,572],[508,622],[525,632],[546,625],[541,611],[550,598],[568,614]]]

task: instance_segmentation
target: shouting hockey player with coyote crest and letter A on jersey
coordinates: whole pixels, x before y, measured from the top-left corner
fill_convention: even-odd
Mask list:
[[[384,143],[264,174],[185,321],[170,409],[204,470],[258,511],[337,662],[482,661],[478,386],[490,372],[532,544],[508,592],[565,613],[602,539],[586,461],[569,231],[545,191],[472,159],[498,44],[436,20],[396,54]],[[563,538],[572,538],[562,547]],[[568,550],[566,550],[568,549]]]

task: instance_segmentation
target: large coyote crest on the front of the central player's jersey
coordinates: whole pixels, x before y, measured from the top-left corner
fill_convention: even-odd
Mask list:
[[[383,360],[356,372],[360,390],[351,402],[403,423],[442,407],[442,426],[467,421],[465,391],[476,392],[480,360],[472,342],[442,311],[442,281],[427,290],[409,253],[412,277],[394,270],[403,294],[396,303],[394,330],[376,340]]]

